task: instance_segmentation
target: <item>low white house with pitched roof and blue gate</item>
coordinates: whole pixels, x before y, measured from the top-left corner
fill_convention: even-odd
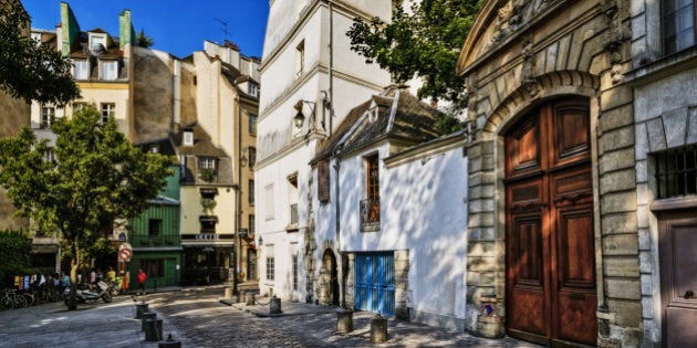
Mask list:
[[[321,304],[464,329],[467,273],[451,261],[467,254],[467,134],[440,137],[439,114],[391,87],[321,143],[311,188],[315,236],[326,250]],[[342,272],[329,250],[334,239]]]

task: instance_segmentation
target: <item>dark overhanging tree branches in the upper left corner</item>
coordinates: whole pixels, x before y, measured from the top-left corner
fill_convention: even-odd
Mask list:
[[[27,103],[65,105],[80,96],[67,57],[27,36],[30,17],[17,0],[0,0],[0,88]]]

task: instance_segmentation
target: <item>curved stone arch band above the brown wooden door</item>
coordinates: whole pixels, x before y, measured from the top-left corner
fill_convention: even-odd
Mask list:
[[[538,76],[538,81],[540,91],[537,95],[530,95],[521,85],[493,109],[482,127],[482,140],[493,140],[512,124],[513,118],[548,99],[563,95],[594,98],[600,93],[600,77],[579,71],[554,71]]]

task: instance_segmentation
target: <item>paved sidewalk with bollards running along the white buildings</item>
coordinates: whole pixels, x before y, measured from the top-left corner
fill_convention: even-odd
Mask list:
[[[354,330],[339,334],[336,331],[336,312],[341,310],[339,307],[281,300],[281,313],[271,314],[270,300],[269,297],[256,297],[254,305],[248,306],[246,303],[236,303],[236,298],[219,299],[221,304],[235,309],[270,318],[279,327],[293,330],[298,335],[311,336],[336,347],[541,347],[510,337],[488,339],[394,318],[387,319],[387,341],[371,345],[371,319],[375,317],[374,313],[354,312]]]

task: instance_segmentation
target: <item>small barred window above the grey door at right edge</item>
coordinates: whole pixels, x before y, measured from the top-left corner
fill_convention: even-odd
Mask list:
[[[697,194],[697,146],[662,151],[654,159],[659,199]]]

